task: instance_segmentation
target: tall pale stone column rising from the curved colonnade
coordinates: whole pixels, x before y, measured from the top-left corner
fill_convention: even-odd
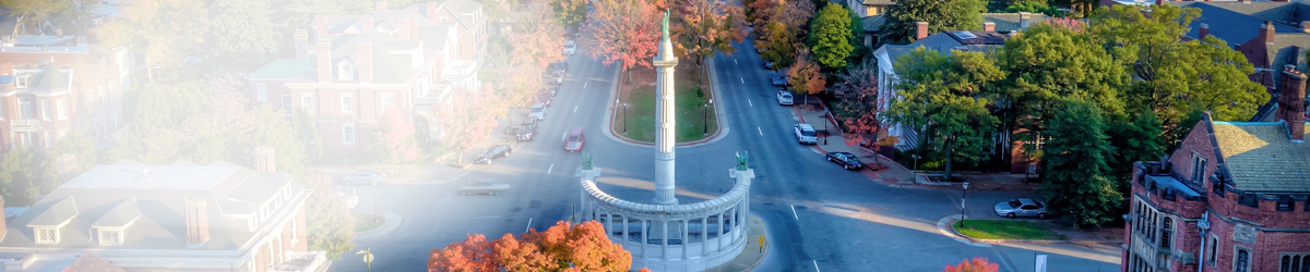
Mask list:
[[[673,67],[677,58],[673,56],[673,43],[668,39],[668,13],[664,13],[663,38],[659,41],[659,55],[652,61],[656,75],[655,97],[655,204],[673,205],[673,143],[677,140],[675,131],[673,110]]]

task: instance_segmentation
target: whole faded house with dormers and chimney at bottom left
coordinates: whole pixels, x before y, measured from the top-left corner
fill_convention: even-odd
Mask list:
[[[58,271],[39,262],[90,252],[123,271],[325,271],[305,238],[310,190],[278,173],[272,153],[257,148],[255,169],[96,166],[0,222],[0,259],[5,271]]]

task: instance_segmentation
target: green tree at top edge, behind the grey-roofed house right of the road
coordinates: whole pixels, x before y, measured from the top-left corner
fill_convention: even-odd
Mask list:
[[[879,44],[914,42],[916,22],[927,22],[927,33],[982,29],[984,0],[897,0],[883,17]]]

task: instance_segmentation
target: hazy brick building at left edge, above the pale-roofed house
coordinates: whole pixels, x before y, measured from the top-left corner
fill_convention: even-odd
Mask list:
[[[22,35],[0,46],[0,154],[71,133],[102,144],[126,127],[131,52],[79,37]]]

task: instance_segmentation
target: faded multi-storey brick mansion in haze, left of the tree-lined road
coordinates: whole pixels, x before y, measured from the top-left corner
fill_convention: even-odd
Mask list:
[[[455,90],[477,90],[489,35],[481,4],[447,0],[371,16],[316,16],[297,30],[296,58],[250,75],[248,95],[291,115],[309,112],[326,150],[365,150],[388,110],[426,115]]]

